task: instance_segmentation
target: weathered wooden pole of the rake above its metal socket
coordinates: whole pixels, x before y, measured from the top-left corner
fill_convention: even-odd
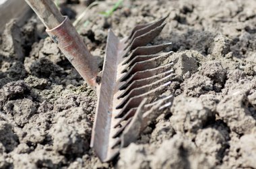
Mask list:
[[[42,23],[51,30],[57,27],[64,21],[58,7],[51,0],[25,0],[28,5],[34,10]]]

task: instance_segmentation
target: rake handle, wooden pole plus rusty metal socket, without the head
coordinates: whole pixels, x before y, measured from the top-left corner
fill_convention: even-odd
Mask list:
[[[61,12],[51,0],[25,1],[44,23],[47,28],[46,32],[77,72],[91,87],[96,87],[96,75],[98,72],[96,58],[90,54],[71,21],[61,15]]]

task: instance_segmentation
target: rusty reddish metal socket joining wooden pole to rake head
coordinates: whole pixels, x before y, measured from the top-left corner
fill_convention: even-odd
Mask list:
[[[84,80],[95,87],[98,72],[96,58],[90,54],[71,21],[65,17],[59,26],[46,32]]]

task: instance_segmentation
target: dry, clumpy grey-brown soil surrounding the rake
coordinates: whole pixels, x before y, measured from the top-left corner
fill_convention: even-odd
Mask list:
[[[92,1],[60,1],[75,18]],[[0,168],[256,168],[256,1],[124,1],[109,17],[92,7],[77,28],[98,56],[108,28],[120,38],[164,17],[152,42],[172,42],[172,106],[119,158],[90,148],[96,94],[35,15],[0,39]],[[85,24],[86,23],[86,24]]]

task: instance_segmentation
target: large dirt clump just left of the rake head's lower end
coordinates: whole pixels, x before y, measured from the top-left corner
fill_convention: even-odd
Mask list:
[[[88,137],[92,123],[88,122],[86,111],[82,107],[62,111],[55,118],[57,122],[50,130],[53,135],[53,150],[77,156],[89,149]]]

